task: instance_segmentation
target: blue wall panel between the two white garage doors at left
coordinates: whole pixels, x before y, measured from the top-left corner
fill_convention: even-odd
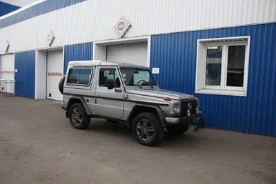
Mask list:
[[[14,68],[15,94],[34,99],[35,51],[15,53]]]

